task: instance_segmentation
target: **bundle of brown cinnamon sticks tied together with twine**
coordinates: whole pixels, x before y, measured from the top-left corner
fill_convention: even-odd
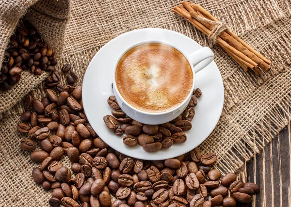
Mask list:
[[[214,41],[226,50],[244,70],[252,70],[259,75],[262,71],[270,69],[271,61],[242,41],[235,33],[226,27],[223,29],[224,23],[217,20],[201,6],[184,1],[182,5],[175,6],[172,11],[185,17],[195,28],[207,36],[217,34]],[[220,32],[220,29],[223,32]]]

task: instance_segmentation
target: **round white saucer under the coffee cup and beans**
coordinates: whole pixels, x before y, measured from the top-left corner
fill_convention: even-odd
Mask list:
[[[138,144],[134,147],[124,145],[123,136],[115,135],[103,122],[103,116],[111,114],[113,110],[107,103],[107,98],[113,95],[111,87],[113,67],[119,54],[125,48],[147,39],[160,39],[172,43],[186,55],[201,48],[189,37],[170,30],[151,28],[124,33],[101,48],[88,65],[82,85],[83,106],[91,126],[113,149],[137,159],[169,159],[189,152],[210,135],[223,109],[224,87],[219,69],[214,61],[195,75],[195,88],[201,89],[202,96],[198,98],[198,105],[195,107],[195,116],[192,120],[193,127],[186,132],[187,141],[185,143],[173,144],[169,149],[162,149],[155,153],[147,153]]]

